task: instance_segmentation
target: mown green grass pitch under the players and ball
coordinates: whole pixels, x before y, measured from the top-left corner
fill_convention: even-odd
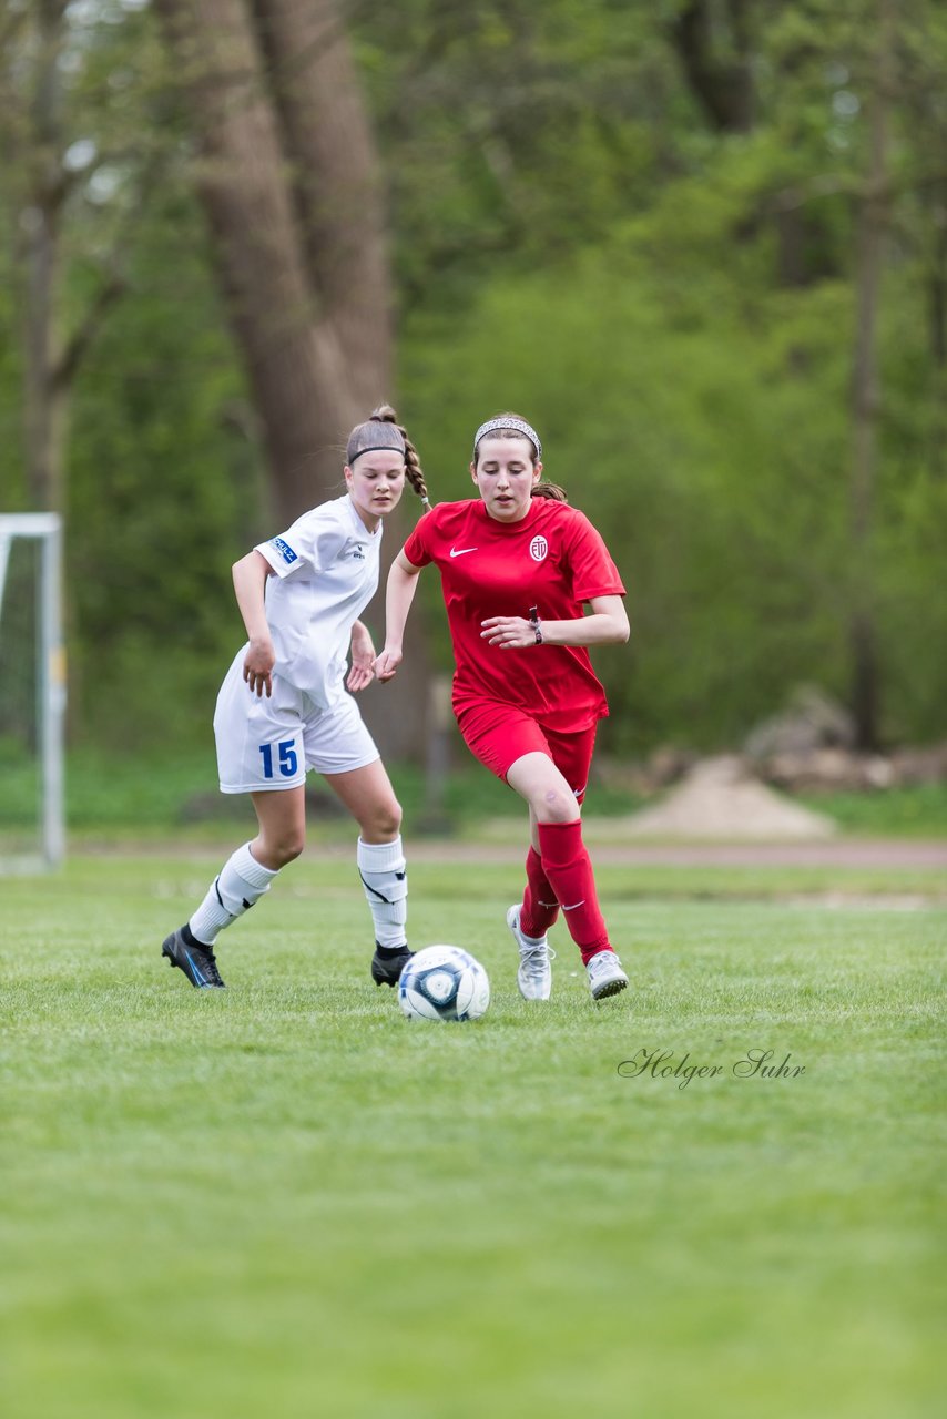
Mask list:
[[[412,868],[469,1026],[371,985],[348,861],[221,938],[226,993],[159,959],[210,857],[0,880],[6,1419],[941,1412],[947,911],[605,868],[633,989],[558,929],[527,1006],[517,856]],[[721,1073],[619,1073],[655,1049]]]

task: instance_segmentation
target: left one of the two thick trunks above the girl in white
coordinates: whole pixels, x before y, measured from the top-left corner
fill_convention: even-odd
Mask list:
[[[158,10],[202,135],[197,182],[261,414],[274,515],[291,522],[339,481],[338,447],[351,424],[344,353],[310,288],[243,0],[159,0]]]

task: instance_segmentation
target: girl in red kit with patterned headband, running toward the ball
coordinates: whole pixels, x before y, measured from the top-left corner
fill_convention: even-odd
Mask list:
[[[507,912],[520,993],[549,999],[547,932],[561,907],[601,1000],[623,990],[628,976],[582,841],[579,805],[596,724],[608,714],[586,647],[628,640],[625,587],[588,518],[540,481],[541,457],[538,434],[517,414],[480,426],[470,464],[480,497],[433,508],[398,553],[375,673],[390,680],[398,670],[417,573],[433,562],[454,646],[457,725],[480,762],[530,805],[527,887]]]

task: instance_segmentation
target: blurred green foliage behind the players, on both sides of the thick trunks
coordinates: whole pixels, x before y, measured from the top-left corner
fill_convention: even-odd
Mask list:
[[[747,7],[748,132],[708,121],[674,40],[681,9],[369,0],[351,20],[390,192],[399,403],[439,499],[467,495],[481,417],[520,407],[541,426],[549,475],[628,579],[632,644],[596,657],[613,751],[738,742],[795,683],[845,697],[850,678],[875,6]],[[737,37],[714,13],[708,60],[731,62]],[[61,336],[109,271],[125,281],[71,410],[72,736],[196,745],[241,639],[229,566],[271,531],[264,458],[152,7],[70,7],[67,24],[67,131],[95,158],[64,207]],[[21,104],[30,54],[10,54],[0,98]],[[933,739],[947,700],[933,653],[947,603],[930,590],[947,535],[940,7],[899,9],[896,58],[873,610],[883,734]],[[9,146],[0,436],[3,505],[21,507],[20,129]]]

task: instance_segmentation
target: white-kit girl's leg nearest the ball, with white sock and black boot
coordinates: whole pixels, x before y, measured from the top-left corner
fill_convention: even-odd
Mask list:
[[[407,864],[400,839],[400,803],[381,759],[324,778],[359,826],[358,871],[375,924],[372,979],[376,985],[395,986],[412,956],[405,934]]]

